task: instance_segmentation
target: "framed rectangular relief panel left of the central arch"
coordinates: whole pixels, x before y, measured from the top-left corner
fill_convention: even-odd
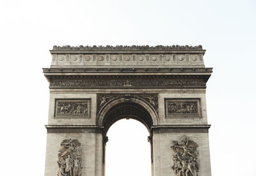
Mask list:
[[[90,99],[56,99],[54,117],[90,118]]]

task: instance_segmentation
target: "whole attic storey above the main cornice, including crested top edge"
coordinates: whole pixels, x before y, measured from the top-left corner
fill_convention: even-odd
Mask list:
[[[127,66],[194,66],[204,68],[205,50],[202,46],[106,46],[70,47],[54,46],[51,50],[51,68],[70,68],[94,66],[127,68]]]

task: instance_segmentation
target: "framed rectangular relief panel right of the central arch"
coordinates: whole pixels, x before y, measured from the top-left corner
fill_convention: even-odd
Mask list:
[[[200,98],[165,98],[166,118],[201,118]]]

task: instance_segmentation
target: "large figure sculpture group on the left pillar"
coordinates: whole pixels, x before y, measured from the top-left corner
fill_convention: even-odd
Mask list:
[[[76,139],[65,139],[61,142],[58,154],[58,176],[82,175],[81,143]]]

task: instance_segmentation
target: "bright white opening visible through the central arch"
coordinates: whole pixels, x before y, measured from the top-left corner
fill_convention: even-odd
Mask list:
[[[132,130],[131,130],[132,129]],[[105,175],[151,175],[150,143],[145,124],[115,121],[108,131]]]

